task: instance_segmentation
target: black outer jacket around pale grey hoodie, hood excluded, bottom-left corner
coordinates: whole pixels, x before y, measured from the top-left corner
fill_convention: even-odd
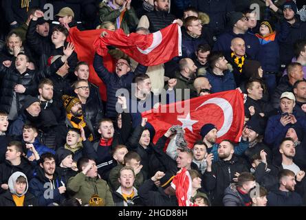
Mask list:
[[[0,206],[16,206],[12,198],[12,192],[7,191],[0,196]],[[39,203],[30,192],[25,193],[25,199],[23,201],[23,206],[39,206]]]

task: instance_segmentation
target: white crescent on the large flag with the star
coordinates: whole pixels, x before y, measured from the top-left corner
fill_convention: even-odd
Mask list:
[[[219,106],[222,109],[224,115],[224,122],[223,125],[221,126],[221,129],[217,133],[217,137],[225,135],[230,129],[230,126],[232,126],[232,119],[233,119],[232,105],[224,98],[210,98],[206,100],[206,102],[200,104],[199,107],[203,107],[205,104],[217,104],[217,106]],[[197,109],[199,109],[199,107],[197,107]],[[195,111],[197,111],[197,109],[195,109]]]

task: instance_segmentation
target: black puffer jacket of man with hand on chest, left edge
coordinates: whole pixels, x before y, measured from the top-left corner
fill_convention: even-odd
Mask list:
[[[16,93],[17,112],[20,113],[25,96],[35,96],[37,94],[38,83],[36,81],[36,72],[27,69],[23,74],[20,74],[14,65],[10,68],[6,68],[1,64],[0,74],[4,74],[0,92],[0,109],[2,111],[10,112],[15,85],[21,84],[25,87],[25,92],[23,94]]]

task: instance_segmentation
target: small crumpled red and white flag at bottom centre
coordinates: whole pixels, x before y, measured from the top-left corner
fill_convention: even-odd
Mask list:
[[[177,173],[171,182],[171,186],[175,189],[179,206],[197,206],[197,204],[190,201],[193,189],[192,182],[193,180],[186,168],[182,168],[182,172]]]

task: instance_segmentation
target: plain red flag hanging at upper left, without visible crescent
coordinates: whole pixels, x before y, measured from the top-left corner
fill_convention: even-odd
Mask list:
[[[80,32],[76,27],[70,28],[67,41],[74,43],[76,54],[78,54],[78,60],[85,61],[89,64],[89,82],[99,87],[101,98],[106,101],[107,92],[105,84],[100,80],[93,67],[94,54],[96,52],[93,44],[100,36],[101,32],[102,30],[87,30]],[[115,71],[115,63],[108,53],[105,54],[103,63],[109,72]]]

